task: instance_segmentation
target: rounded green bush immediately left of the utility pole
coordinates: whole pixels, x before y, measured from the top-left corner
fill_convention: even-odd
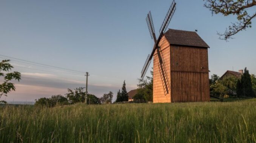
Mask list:
[[[66,96],[68,98],[69,103],[75,104],[77,102],[84,102],[85,101],[85,92],[83,92],[83,89],[85,87],[79,87],[74,90],[68,89],[68,93],[66,93]]]

